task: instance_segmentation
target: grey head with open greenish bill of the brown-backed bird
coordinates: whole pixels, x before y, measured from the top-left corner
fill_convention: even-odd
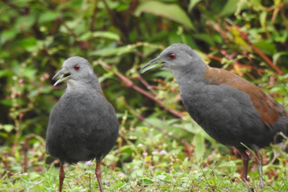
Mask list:
[[[145,64],[141,68],[141,73],[159,68],[172,73],[185,71],[191,67],[197,67],[197,61],[199,60],[202,61],[200,56],[191,47],[182,43],[176,43],[164,49],[158,57]]]

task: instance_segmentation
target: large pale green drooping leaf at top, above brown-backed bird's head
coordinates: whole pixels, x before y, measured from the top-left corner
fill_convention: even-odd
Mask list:
[[[177,23],[182,24],[188,29],[195,30],[190,18],[185,11],[177,4],[162,3],[160,1],[143,1],[136,8],[134,14],[139,17],[142,12],[150,13],[156,16],[170,19]]]

